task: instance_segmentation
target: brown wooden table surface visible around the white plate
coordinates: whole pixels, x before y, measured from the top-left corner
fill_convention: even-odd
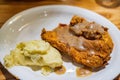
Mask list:
[[[108,18],[120,29],[120,6],[105,8],[97,4],[95,0],[0,0],[0,28],[6,20],[20,11],[35,6],[52,4],[67,4],[92,10]],[[0,65],[0,69],[0,80],[5,80],[6,78],[7,80],[16,80],[13,79],[14,77],[10,77],[8,72],[4,71],[3,66]],[[120,78],[118,77],[115,80],[120,80]]]

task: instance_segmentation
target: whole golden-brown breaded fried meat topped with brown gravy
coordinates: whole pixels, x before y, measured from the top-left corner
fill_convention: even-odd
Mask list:
[[[59,24],[52,31],[42,30],[41,37],[73,61],[90,68],[101,68],[110,60],[113,42],[108,28],[74,16],[70,24]]]

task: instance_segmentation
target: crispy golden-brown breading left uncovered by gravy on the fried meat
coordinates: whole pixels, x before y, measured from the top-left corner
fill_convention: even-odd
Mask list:
[[[75,22],[74,18],[72,18],[72,26],[79,23],[80,17],[77,18],[79,19],[76,20],[77,22]],[[61,25],[58,26],[58,28],[60,27]],[[64,28],[65,26],[62,27]],[[99,68],[105,66],[110,59],[110,53],[113,49],[113,42],[107,31],[102,34],[100,39],[90,40],[84,38],[84,46],[87,50],[78,50],[74,46],[70,46],[69,44],[60,41],[58,35],[59,34],[57,34],[55,30],[46,31],[43,29],[41,37],[43,40],[49,42],[53,47],[57,48],[60,52],[72,57],[72,59],[77,63],[91,68]],[[94,49],[95,52],[90,54],[90,49]]]

